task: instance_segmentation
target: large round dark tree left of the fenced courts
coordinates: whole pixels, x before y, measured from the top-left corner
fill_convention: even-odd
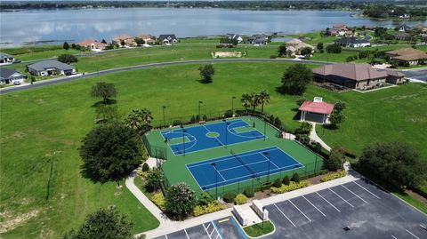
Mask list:
[[[136,131],[118,123],[94,128],[82,143],[82,172],[95,182],[116,181],[119,184],[145,156]]]

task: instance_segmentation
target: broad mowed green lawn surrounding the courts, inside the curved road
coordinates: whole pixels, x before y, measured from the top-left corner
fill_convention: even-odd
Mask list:
[[[125,187],[115,195],[115,183],[93,184],[80,175],[77,148],[94,126],[93,104],[97,100],[89,92],[96,82],[116,84],[117,107],[124,117],[133,108],[149,108],[159,120],[163,105],[168,118],[197,115],[198,100],[204,102],[202,113],[219,112],[230,108],[231,96],[239,99],[243,92],[265,89],[271,95],[266,111],[279,116],[288,129],[299,125],[294,120],[295,100],[299,97],[275,92],[289,64],[216,63],[213,84],[197,81],[199,66],[122,72],[0,96],[1,221],[22,219],[25,213],[36,215],[2,237],[58,238],[69,228],[77,227],[86,214],[110,204],[134,220],[134,232],[157,227],[157,220]],[[423,84],[409,84],[369,93],[336,93],[310,85],[304,97],[323,96],[329,102],[347,102],[347,121],[338,130],[326,130],[324,139],[331,146],[342,145],[359,154],[375,141],[406,141],[425,158],[426,89]],[[46,200],[50,162],[53,171]]]

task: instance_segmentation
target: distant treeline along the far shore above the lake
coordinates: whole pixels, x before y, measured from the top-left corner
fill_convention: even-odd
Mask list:
[[[342,1],[55,1],[55,2],[0,2],[1,11],[27,9],[69,8],[131,8],[131,7],[176,7],[176,8],[225,8],[247,10],[352,10],[363,11],[369,17],[399,17],[399,13],[413,16],[426,15],[426,0],[408,0],[391,4],[389,0],[342,0]],[[399,4],[399,5],[398,5]],[[405,6],[402,6],[405,5]],[[384,8],[386,6],[386,8]],[[396,10],[395,10],[396,9]],[[399,12],[399,13],[398,13]]]

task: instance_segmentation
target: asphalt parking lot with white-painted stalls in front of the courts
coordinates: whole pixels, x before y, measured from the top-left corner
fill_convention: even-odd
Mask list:
[[[266,206],[283,238],[427,238],[427,215],[359,179]],[[247,238],[230,217],[157,238]]]

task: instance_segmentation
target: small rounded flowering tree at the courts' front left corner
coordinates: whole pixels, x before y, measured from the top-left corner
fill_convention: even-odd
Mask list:
[[[195,204],[194,191],[186,183],[180,182],[167,190],[165,209],[172,216],[184,219],[193,211]]]

